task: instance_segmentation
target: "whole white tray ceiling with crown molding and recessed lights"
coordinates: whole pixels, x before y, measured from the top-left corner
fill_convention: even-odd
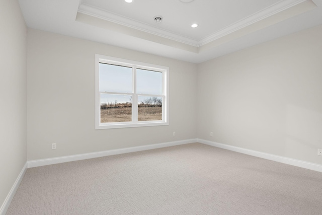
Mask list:
[[[200,63],[322,24],[322,0],[19,0],[27,26]],[[156,23],[155,16],[162,22]],[[197,23],[197,28],[191,24]]]

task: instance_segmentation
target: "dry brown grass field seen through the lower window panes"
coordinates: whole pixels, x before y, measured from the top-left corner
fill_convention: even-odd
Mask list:
[[[131,107],[111,107],[101,109],[101,122],[129,122],[132,120]],[[162,107],[141,106],[138,107],[138,121],[162,120]]]

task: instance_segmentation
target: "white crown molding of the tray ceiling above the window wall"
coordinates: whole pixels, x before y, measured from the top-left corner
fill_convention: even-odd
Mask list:
[[[139,31],[143,31],[149,34],[154,34],[160,37],[165,37],[167,39],[175,40],[181,43],[185,43],[191,46],[198,47],[199,41],[175,34],[173,32],[165,31],[154,26],[147,25],[145,23],[130,19],[128,17],[123,17],[106,10],[99,9],[90,5],[82,4],[78,7],[78,13],[90,15],[99,19],[107,20],[109,22],[114,22],[119,25],[123,25],[129,28],[133,28]]]

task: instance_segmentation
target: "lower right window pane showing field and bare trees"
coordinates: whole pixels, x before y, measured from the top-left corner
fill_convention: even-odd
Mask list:
[[[137,120],[162,120],[162,97],[138,96]]]

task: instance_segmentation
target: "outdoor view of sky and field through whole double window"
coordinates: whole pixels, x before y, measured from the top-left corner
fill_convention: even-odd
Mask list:
[[[133,73],[132,67],[106,63],[99,66],[101,123],[131,122],[132,96],[137,101],[137,121],[162,120],[161,72],[136,69]],[[136,75],[136,94],[133,92],[133,74]]]

